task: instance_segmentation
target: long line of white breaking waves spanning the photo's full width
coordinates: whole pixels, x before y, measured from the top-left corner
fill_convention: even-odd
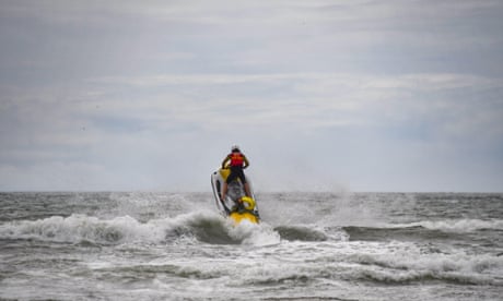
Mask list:
[[[163,243],[178,238],[195,238],[212,244],[273,244],[286,241],[348,241],[395,238],[447,238],[480,230],[503,230],[503,220],[440,220],[381,225],[379,227],[319,227],[292,225],[233,226],[215,213],[189,213],[141,222],[131,216],[102,219],[73,214],[37,220],[15,220],[0,225],[0,239],[36,239],[55,242],[118,244]]]

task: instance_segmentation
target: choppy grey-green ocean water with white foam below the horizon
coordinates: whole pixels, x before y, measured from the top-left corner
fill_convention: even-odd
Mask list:
[[[1,193],[1,300],[503,300],[503,194]]]

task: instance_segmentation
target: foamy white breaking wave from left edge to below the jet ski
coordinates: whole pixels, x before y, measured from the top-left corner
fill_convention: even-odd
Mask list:
[[[51,216],[38,220],[16,220],[0,225],[0,239],[43,240],[92,244],[165,243],[179,238],[194,238],[212,244],[273,244],[280,234],[266,224],[230,220],[213,213],[190,213],[174,218],[140,222],[122,216],[100,219],[94,216]]]

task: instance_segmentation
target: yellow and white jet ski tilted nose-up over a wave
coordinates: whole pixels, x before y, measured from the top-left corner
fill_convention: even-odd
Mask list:
[[[217,209],[222,215],[233,219],[235,225],[241,224],[243,220],[258,224],[260,220],[258,206],[247,176],[245,177],[249,185],[250,196],[246,196],[244,184],[239,179],[236,179],[227,184],[227,195],[225,200],[222,200],[223,184],[230,173],[231,169],[221,168],[211,174],[211,186],[213,188]]]

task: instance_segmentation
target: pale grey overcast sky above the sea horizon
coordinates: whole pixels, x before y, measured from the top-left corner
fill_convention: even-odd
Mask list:
[[[502,192],[503,1],[0,0],[0,191]]]

